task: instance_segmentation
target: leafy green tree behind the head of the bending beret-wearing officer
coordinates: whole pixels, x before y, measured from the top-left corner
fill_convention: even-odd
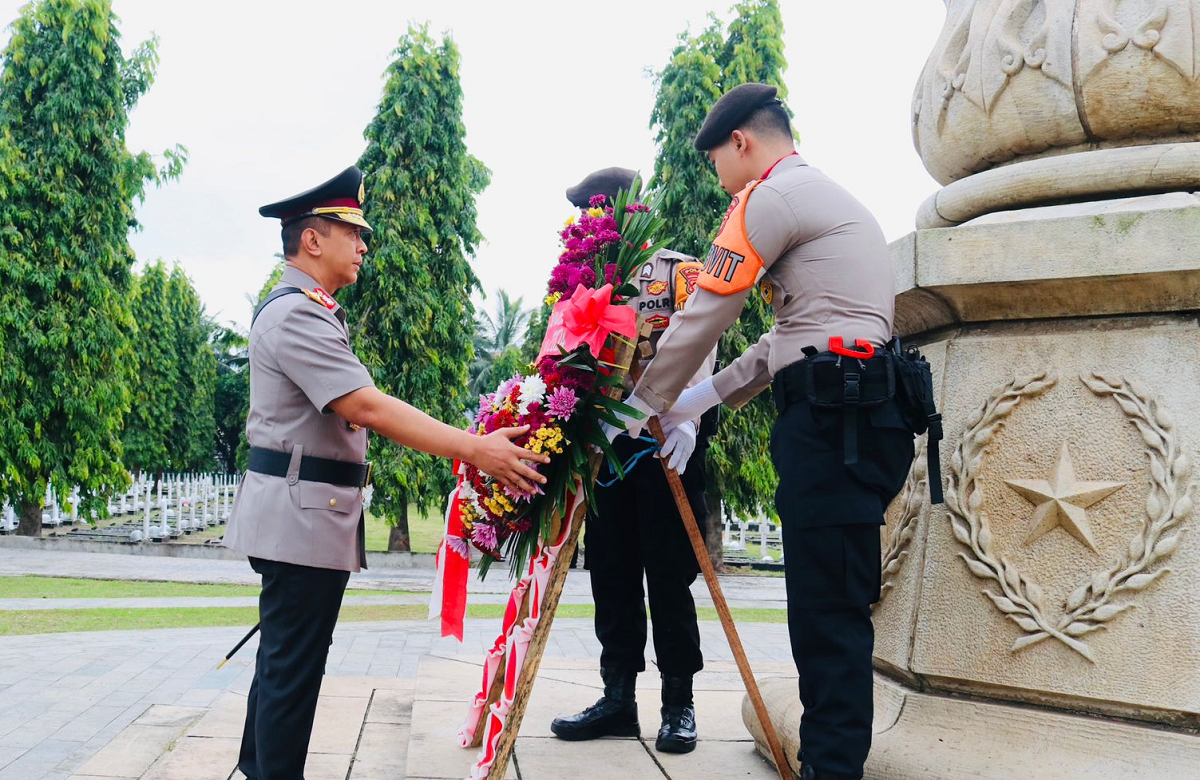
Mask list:
[[[658,78],[658,97],[650,116],[659,156],[652,187],[662,194],[662,211],[672,226],[672,246],[703,257],[715,238],[728,196],[692,139],[708,108],[727,90],[748,82],[774,84],[787,97],[782,72],[784,22],[778,0],[743,0],[722,30],[710,17],[698,36],[680,36],[671,61]],[[770,307],[751,295],[740,318],[722,336],[718,360],[728,365],[774,320]],[[718,433],[708,450],[708,498],[715,512],[724,504],[731,515],[774,516],[775,472],[770,463],[770,426],[775,412],[762,395],[733,412],[721,409]],[[720,516],[709,526],[709,552],[720,562],[721,540],[715,533]]]

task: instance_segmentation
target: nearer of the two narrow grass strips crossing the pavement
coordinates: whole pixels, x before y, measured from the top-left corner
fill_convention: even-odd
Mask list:
[[[701,620],[715,620],[712,607],[697,610]],[[370,623],[379,620],[424,620],[428,614],[425,605],[343,606],[341,623]],[[590,604],[564,604],[556,612],[563,618],[590,618],[595,608]],[[503,604],[472,604],[467,607],[469,618],[499,620],[504,616]],[[740,623],[786,623],[784,610],[733,610],[733,618]],[[128,631],[145,629],[182,629],[244,625],[247,629],[258,620],[256,607],[180,607],[152,610],[26,610],[0,612],[0,636],[23,634],[61,634],[65,631]],[[215,659],[214,662],[216,662]]]

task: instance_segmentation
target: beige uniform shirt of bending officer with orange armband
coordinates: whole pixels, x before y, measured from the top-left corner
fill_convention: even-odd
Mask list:
[[[841,336],[882,347],[892,337],[895,282],[887,241],[866,208],[799,157],[785,157],[745,205],[746,234],[762,257],[758,283],[732,295],[697,287],[637,385],[655,412],[670,409],[748,295],[763,295],[775,325],[713,378],[721,401],[739,408],[770,385],[804,347]]]

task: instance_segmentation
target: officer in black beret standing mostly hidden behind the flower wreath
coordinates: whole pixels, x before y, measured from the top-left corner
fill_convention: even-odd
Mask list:
[[[566,191],[566,198],[587,208],[602,194],[610,203],[629,191],[636,172],[628,168],[598,170]],[[652,346],[664,343],[677,310],[696,289],[701,263],[688,254],[660,250],[630,280],[638,295],[630,300],[652,325]],[[689,384],[713,376],[715,349],[702,361]],[[632,388],[629,388],[632,389]],[[700,415],[697,415],[698,418]],[[659,455],[679,472],[696,517],[703,522],[704,431],[700,420],[685,420],[673,431],[661,452],[649,437],[617,437],[613,449],[626,466],[624,479],[611,468],[600,472],[596,514],[588,517],[587,558],[595,601],[596,638],[602,647],[600,676],[605,694],[582,713],[556,718],[551,731],[560,739],[640,736],[634,686],[646,671],[646,598],[649,596],[654,652],[662,678],[661,726],[655,748],[662,752],[689,752],[696,746],[696,712],[691,680],[703,665],[696,605],[689,587],[698,568],[683,520]],[[646,592],[642,580],[646,580]]]

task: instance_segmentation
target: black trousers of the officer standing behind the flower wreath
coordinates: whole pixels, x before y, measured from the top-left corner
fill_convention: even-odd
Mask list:
[[[620,436],[613,443],[622,462],[650,446]],[[697,446],[683,484],[703,529],[704,448]],[[607,467],[600,479],[613,475]],[[700,572],[661,463],[647,454],[610,487],[596,485],[596,516],[587,520],[586,554],[595,601],[600,666],[646,671],[646,595],[654,626],[659,671],[691,677],[704,666],[696,604],[689,587]],[[646,577],[646,589],[642,577]]]

